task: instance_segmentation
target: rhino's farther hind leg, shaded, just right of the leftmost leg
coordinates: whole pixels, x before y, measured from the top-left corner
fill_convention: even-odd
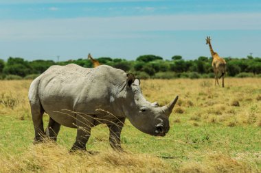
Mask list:
[[[59,131],[60,124],[50,117],[48,127],[45,130],[45,135],[56,142]]]

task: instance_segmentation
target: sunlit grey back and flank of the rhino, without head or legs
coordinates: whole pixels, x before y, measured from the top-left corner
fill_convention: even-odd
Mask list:
[[[58,121],[61,115],[55,112],[62,109],[84,114],[95,114],[95,109],[111,109],[111,96],[117,85],[126,81],[126,73],[104,65],[82,68],[69,64],[52,66],[36,80],[43,109]]]

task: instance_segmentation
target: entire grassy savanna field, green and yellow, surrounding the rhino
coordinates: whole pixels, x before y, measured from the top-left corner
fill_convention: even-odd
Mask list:
[[[225,78],[225,88],[214,79],[141,80],[150,102],[179,95],[170,131],[153,137],[126,121],[119,153],[99,125],[87,143],[94,155],[68,152],[76,129],[67,127],[58,144],[32,144],[31,82],[0,81],[0,172],[261,172],[261,78]]]

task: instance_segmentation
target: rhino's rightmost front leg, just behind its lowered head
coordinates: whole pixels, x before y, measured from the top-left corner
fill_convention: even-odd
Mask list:
[[[120,118],[110,124],[107,124],[110,129],[110,145],[114,150],[123,151],[120,145],[120,133],[122,132],[122,127],[124,126],[125,119],[126,118]]]

